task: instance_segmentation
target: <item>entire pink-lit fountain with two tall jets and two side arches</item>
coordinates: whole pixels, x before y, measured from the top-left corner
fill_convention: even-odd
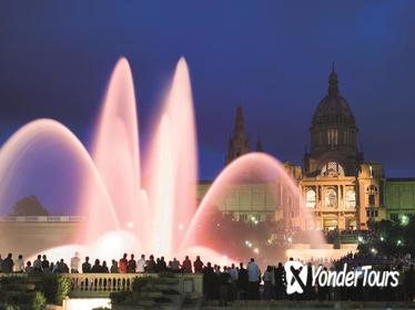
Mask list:
[[[195,123],[184,59],[178,63],[152,137],[142,169],[133,80],[128,61],[121,59],[107,90],[92,155],[55,121],[24,125],[0,152],[0,206],[11,206],[29,194],[48,197],[53,192],[57,202],[71,196],[71,209],[87,218],[85,229],[71,245],[42,251],[52,259],[68,259],[75,250],[105,259],[124,251],[168,258],[201,255],[212,261],[240,258],[237,249],[223,250],[227,239],[240,236],[231,231],[226,238],[209,238],[215,229],[212,210],[239,183],[266,183],[279,188],[279,195],[284,192],[291,197],[287,206],[298,218],[312,216],[281,163],[262,153],[231,163],[196,208]],[[310,236],[310,242],[323,242],[320,232]]]

